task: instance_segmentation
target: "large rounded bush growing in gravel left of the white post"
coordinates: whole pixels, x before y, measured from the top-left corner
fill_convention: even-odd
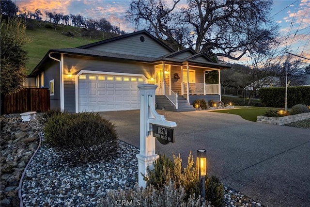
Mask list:
[[[73,163],[110,157],[117,148],[114,124],[98,113],[59,113],[44,128],[46,141]]]

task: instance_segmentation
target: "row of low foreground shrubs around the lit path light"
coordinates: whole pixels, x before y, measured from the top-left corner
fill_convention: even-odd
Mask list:
[[[116,200],[143,201],[143,206],[202,206],[201,189],[197,163],[191,153],[187,159],[187,166],[182,167],[182,159],[173,155],[173,160],[161,155],[154,162],[154,168],[147,170],[148,176],[145,189],[110,191],[105,199],[100,200],[99,206],[115,206]],[[206,203],[214,207],[221,207],[224,201],[224,186],[216,176],[206,176]]]

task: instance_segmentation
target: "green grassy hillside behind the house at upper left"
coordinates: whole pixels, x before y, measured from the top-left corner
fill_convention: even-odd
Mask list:
[[[65,33],[74,34],[74,37],[66,36]],[[84,33],[82,28],[76,28],[66,25],[58,25],[55,31],[54,25],[50,22],[39,21],[34,19],[27,20],[26,34],[31,37],[31,43],[24,45],[24,49],[28,52],[29,62],[27,64],[28,74],[42,60],[49,49],[75,48],[89,43],[103,40],[102,32],[96,32],[97,38],[91,33],[90,36],[81,37]],[[117,34],[106,33],[105,37],[116,36]]]

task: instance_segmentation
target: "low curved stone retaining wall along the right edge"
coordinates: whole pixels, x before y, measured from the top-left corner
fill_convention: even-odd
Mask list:
[[[310,119],[309,113],[299,113],[295,115],[283,116],[283,117],[268,117],[268,116],[257,116],[257,121],[265,124],[274,124],[274,125],[285,125],[292,122],[297,122],[305,119]]]

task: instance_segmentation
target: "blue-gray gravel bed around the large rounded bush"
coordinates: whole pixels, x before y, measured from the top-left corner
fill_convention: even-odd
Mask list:
[[[40,114],[38,114],[40,116]],[[19,114],[7,117],[19,119]],[[27,124],[39,132],[44,141],[38,119]],[[21,196],[25,207],[96,207],[99,198],[110,189],[133,188],[138,182],[139,148],[119,141],[114,159],[72,166],[61,155],[42,142],[26,170]],[[225,207],[260,207],[239,191],[225,186]]]

